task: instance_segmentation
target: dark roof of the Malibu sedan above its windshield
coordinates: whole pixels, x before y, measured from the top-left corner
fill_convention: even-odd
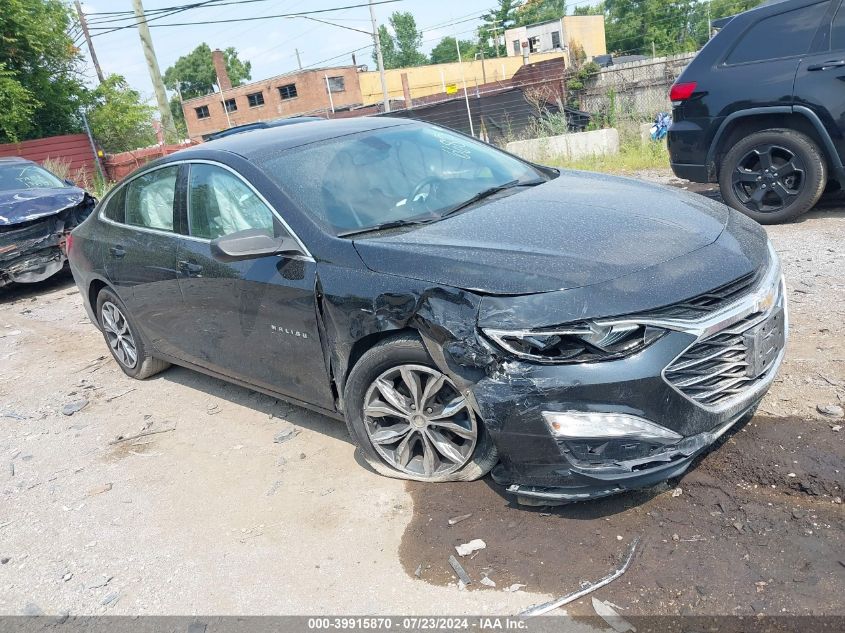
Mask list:
[[[180,160],[190,160],[191,154],[208,150],[231,152],[250,160],[267,152],[279,152],[302,145],[318,143],[347,134],[368,132],[397,125],[411,125],[415,121],[391,117],[356,117],[353,119],[319,120],[248,130],[201,143],[177,152]],[[176,154],[171,154],[176,156]]]

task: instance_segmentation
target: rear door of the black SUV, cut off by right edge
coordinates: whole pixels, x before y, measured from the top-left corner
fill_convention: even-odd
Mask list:
[[[845,159],[845,6],[831,4],[815,50],[798,67],[795,105],[815,112],[839,157]]]

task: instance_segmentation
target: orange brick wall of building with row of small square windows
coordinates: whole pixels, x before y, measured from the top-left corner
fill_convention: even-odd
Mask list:
[[[199,140],[205,134],[244,123],[269,121],[319,110],[329,111],[331,105],[326,88],[327,75],[344,79],[344,90],[332,92],[331,95],[335,107],[361,103],[361,86],[358,83],[358,71],[354,66],[288,73],[244,84],[223,93],[216,92],[185,101],[182,104],[182,111],[185,113],[185,122],[188,125],[188,137],[191,140]],[[279,87],[288,84],[296,85],[297,96],[292,99],[282,99]],[[250,107],[247,95],[256,92],[262,93],[264,104]],[[235,112],[229,113],[228,119],[223,109],[224,99],[235,99],[238,106]],[[198,118],[196,109],[200,106],[208,106],[210,115],[208,118]]]

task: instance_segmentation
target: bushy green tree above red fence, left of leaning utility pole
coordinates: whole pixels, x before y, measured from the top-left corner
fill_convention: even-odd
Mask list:
[[[88,115],[91,133],[107,152],[125,152],[153,145],[155,108],[120,75],[109,75],[93,93],[94,106]]]

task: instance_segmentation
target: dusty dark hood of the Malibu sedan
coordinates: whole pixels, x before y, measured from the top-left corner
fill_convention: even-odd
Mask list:
[[[373,271],[493,295],[580,288],[712,244],[729,209],[640,181],[563,171],[440,222],[359,238]]]

